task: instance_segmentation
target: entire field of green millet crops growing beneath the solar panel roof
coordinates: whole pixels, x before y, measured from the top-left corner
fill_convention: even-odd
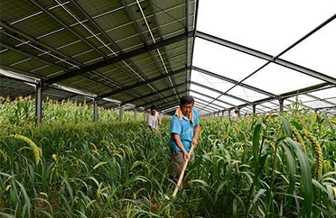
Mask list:
[[[169,119],[150,134],[144,118],[117,123],[102,110],[95,124],[89,106],[45,103],[35,127],[32,108],[0,104],[0,216],[336,216],[335,117],[201,118],[196,159],[172,197]]]

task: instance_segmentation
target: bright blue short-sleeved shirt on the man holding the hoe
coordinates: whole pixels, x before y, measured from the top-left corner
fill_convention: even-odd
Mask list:
[[[174,114],[172,118],[171,124],[171,150],[173,151],[181,151],[175,141],[173,141],[172,133],[177,133],[180,135],[180,139],[182,141],[182,145],[184,150],[189,152],[191,150],[191,140],[193,137],[193,131],[197,124],[200,123],[199,115],[197,114],[195,108],[192,108],[193,114],[193,122],[191,122],[188,117],[182,117],[182,120],[179,120],[179,116]]]

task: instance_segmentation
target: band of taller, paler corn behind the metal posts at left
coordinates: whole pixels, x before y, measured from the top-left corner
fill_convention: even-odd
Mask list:
[[[134,120],[134,112],[124,112],[123,120]],[[144,114],[138,114],[138,120],[144,120]],[[118,109],[98,107],[98,123],[106,121],[118,122]],[[63,100],[61,102],[46,99],[42,102],[42,123],[93,123],[93,105]],[[18,97],[11,101],[0,96],[0,131],[11,131],[3,128],[26,128],[35,124],[35,101],[30,96]]]

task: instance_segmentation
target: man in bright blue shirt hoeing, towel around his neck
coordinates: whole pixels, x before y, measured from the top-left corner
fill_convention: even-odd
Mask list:
[[[175,181],[181,175],[184,161],[194,159],[194,154],[189,154],[191,145],[197,146],[201,126],[199,115],[193,108],[194,99],[191,95],[184,95],[180,105],[175,111],[171,125],[171,168]]]

